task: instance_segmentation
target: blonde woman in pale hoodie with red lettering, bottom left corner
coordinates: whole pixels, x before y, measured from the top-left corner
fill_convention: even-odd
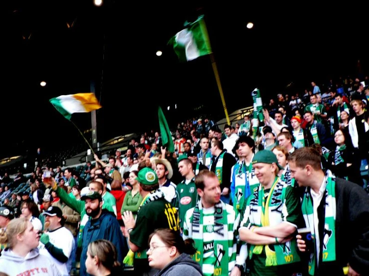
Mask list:
[[[0,270],[8,275],[24,275],[29,271],[39,276],[61,276],[55,265],[38,253],[38,231],[26,218],[13,219],[5,232],[0,233],[0,244],[7,243],[1,252]]]

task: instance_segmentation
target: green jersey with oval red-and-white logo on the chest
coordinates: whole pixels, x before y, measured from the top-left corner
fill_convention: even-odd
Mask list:
[[[196,206],[196,202],[199,199],[197,195],[195,179],[190,180],[186,184],[186,180],[183,180],[177,185],[177,193],[179,195],[179,225],[183,229],[183,222],[186,216],[187,210]]]

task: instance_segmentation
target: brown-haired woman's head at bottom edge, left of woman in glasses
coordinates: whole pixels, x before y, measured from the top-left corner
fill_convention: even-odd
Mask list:
[[[121,271],[114,272],[120,265],[117,262],[115,246],[107,240],[96,240],[88,245],[85,264],[87,273],[93,276],[121,274]]]

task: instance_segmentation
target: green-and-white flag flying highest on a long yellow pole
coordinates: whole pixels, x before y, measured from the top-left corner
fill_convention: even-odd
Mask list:
[[[169,43],[173,44],[180,61],[210,54],[212,51],[204,16],[201,15],[195,22],[188,23],[187,28],[178,32]]]

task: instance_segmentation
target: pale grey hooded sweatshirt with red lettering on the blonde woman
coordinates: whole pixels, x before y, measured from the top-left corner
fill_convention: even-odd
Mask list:
[[[46,256],[38,254],[38,249],[32,249],[24,258],[5,249],[1,252],[0,272],[9,276],[61,276]]]

